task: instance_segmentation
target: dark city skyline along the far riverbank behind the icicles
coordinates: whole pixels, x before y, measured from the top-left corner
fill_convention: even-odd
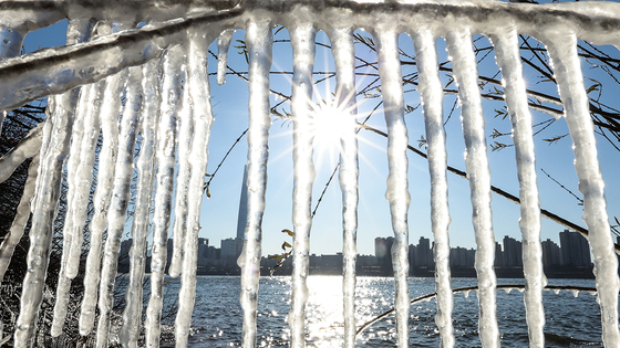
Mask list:
[[[542,241],[542,265],[548,275],[588,276],[591,273],[591,257],[588,241],[578,232],[564,230],[558,233],[560,245],[547,239]],[[220,247],[209,245],[208,239],[198,239],[198,260],[197,266],[202,274],[230,274],[239,272],[237,259],[240,255],[239,238],[230,238],[220,241]],[[362,275],[392,275],[391,247],[394,238],[374,239],[374,254],[358,254],[356,268]],[[132,240],[121,243],[118,272],[126,272],[130,267],[128,255]],[[410,275],[431,276],[434,272],[435,262],[433,255],[434,242],[421,236],[417,244],[409,245]],[[172,260],[173,240],[167,241],[168,261],[166,273]],[[521,242],[510,236],[504,236],[502,243],[496,242],[494,265],[498,270],[500,277],[519,277],[523,275],[523,246]],[[452,246],[450,253],[450,264],[454,276],[474,276],[475,249]],[[149,268],[149,251],[147,256],[147,270]],[[279,266],[279,260],[275,260],[273,254],[264,254],[261,257],[261,273],[267,274]],[[281,265],[280,275],[287,274],[291,267],[291,260],[286,260]],[[316,254],[310,255],[312,274],[341,274],[342,253]],[[578,272],[575,272],[578,271]]]

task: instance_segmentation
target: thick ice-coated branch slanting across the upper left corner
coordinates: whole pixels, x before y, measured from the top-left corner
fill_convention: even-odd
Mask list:
[[[238,8],[199,12],[125,30],[89,43],[41,50],[1,62],[0,112],[144,64],[159,57],[165,48],[182,42],[188,28],[239,14]]]

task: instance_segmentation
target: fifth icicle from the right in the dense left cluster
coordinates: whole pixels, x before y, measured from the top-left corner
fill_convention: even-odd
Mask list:
[[[121,122],[118,136],[118,155],[115,164],[114,189],[107,214],[107,239],[102,261],[100,296],[99,296],[99,325],[96,347],[107,347],[110,330],[110,314],[114,305],[114,283],[118,265],[118,249],[121,236],[125,226],[125,214],[130,200],[130,184],[133,178],[133,158],[136,138],[136,125],[142,104],[142,70],[138,66],[130,67],[125,109]]]

